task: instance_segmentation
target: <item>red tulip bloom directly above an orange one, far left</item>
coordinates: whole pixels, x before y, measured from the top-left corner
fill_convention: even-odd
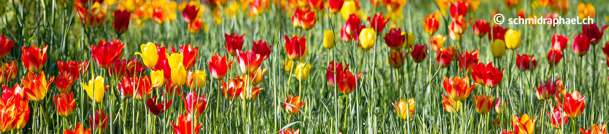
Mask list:
[[[21,64],[26,66],[27,70],[30,72],[38,73],[42,71],[44,63],[46,63],[47,47],[48,45],[45,45],[44,48],[41,49],[32,45],[28,49],[26,46],[23,46],[23,48],[21,48]]]

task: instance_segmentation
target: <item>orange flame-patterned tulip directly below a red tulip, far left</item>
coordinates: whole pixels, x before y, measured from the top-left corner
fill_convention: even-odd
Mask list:
[[[21,79],[21,85],[23,85],[24,93],[28,99],[40,102],[46,96],[47,91],[49,91],[49,85],[51,85],[54,79],[55,77],[51,76],[51,80],[46,81],[44,71],[38,75],[28,72],[27,79]]]

